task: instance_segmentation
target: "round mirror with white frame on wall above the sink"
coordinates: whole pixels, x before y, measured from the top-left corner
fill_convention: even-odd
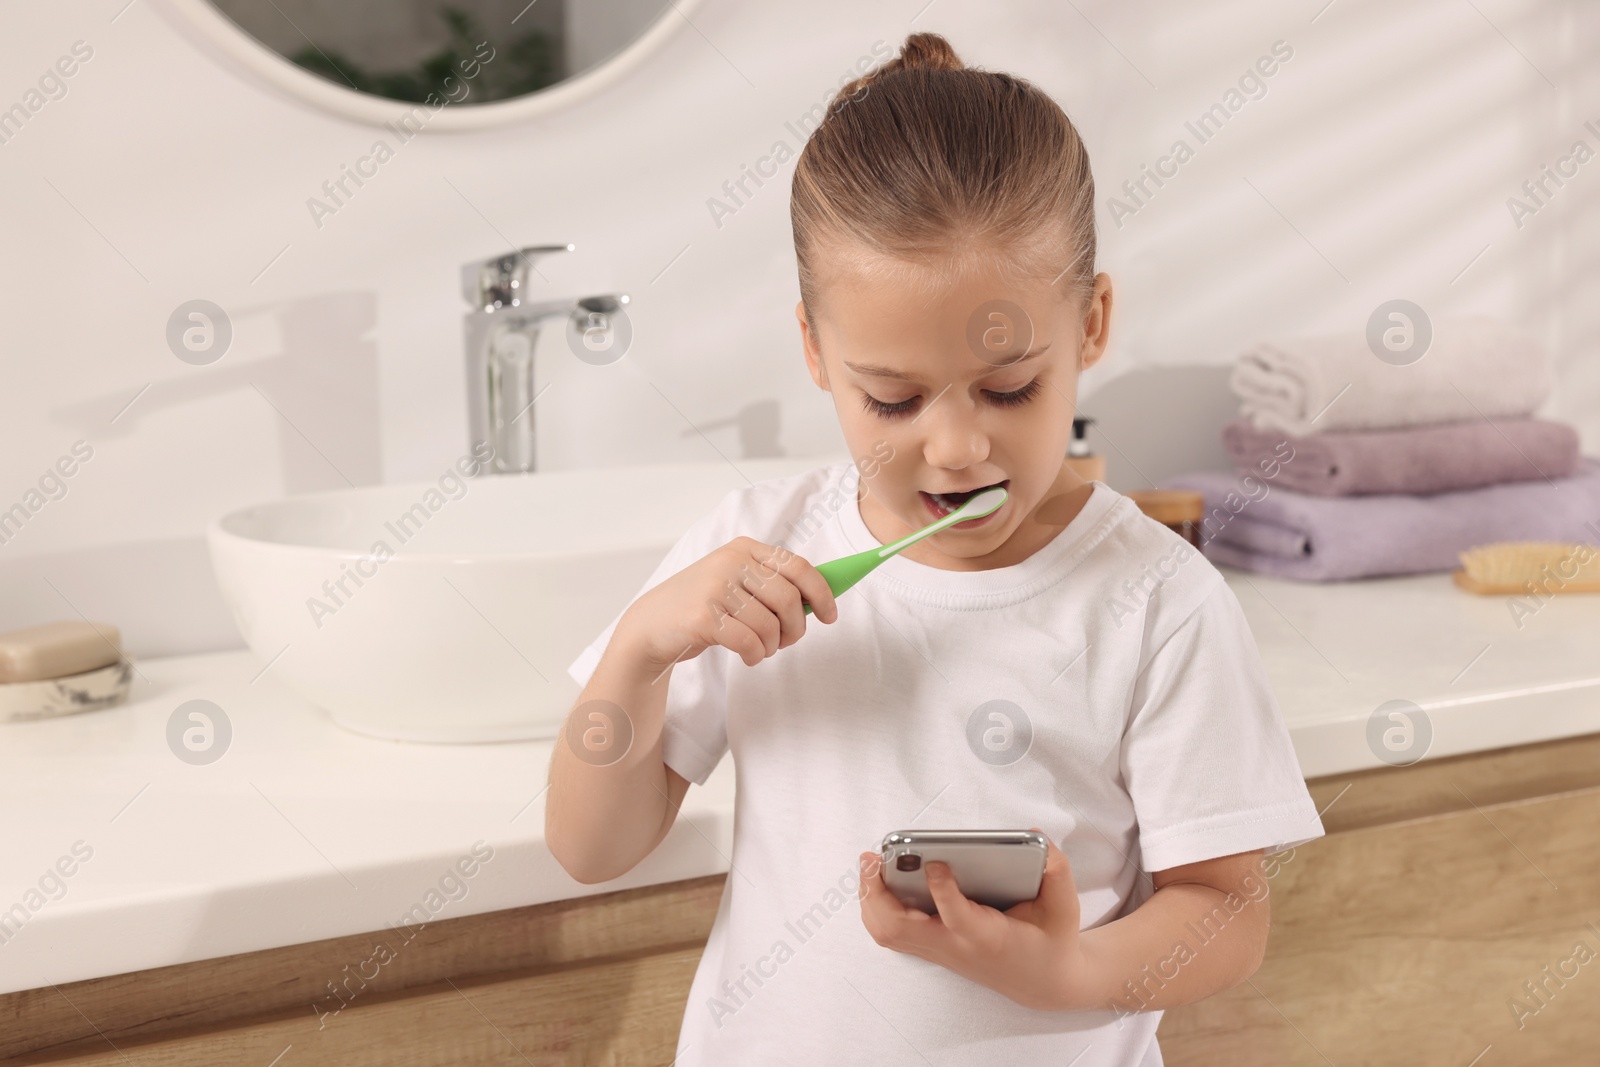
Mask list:
[[[470,130],[574,102],[688,22],[696,0],[157,0],[304,102],[371,123],[427,107]]]

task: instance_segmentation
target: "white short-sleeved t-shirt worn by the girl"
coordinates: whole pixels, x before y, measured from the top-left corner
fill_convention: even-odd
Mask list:
[[[741,534],[813,565],[877,547],[858,480],[838,462],[730,493],[645,589]],[[726,752],[733,870],[680,1067],[1160,1064],[1160,1013],[1035,1011],[874,942],[858,853],[899,829],[1037,825],[1091,928],[1149,897],[1144,872],[1322,835],[1232,590],[1104,483],[1021,563],[894,557],[755,667],[720,646],[674,667],[667,766],[704,784]]]

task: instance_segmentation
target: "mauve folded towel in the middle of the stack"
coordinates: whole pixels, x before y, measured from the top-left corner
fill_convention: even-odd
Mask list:
[[[1578,470],[1578,430],[1544,419],[1474,419],[1408,430],[1288,437],[1246,419],[1222,427],[1240,470],[1280,467],[1277,485],[1317,496],[1446,493],[1502,482],[1566,478]]]

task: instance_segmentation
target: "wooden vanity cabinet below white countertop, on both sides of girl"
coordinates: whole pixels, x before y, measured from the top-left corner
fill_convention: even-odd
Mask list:
[[[1267,960],[1166,1013],[1170,1067],[1597,1061],[1600,736],[1310,785]],[[722,881],[8,993],[0,1065],[664,1065]]]

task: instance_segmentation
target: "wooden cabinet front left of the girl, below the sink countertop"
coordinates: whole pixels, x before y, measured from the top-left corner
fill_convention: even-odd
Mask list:
[[[0,1064],[667,1064],[722,883],[8,993]]]

